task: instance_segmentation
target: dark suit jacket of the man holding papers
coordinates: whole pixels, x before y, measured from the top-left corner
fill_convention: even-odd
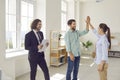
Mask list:
[[[44,39],[43,37],[43,33],[41,31],[39,31],[39,34],[42,37],[42,40]],[[41,56],[42,54],[44,54],[44,52],[39,53],[38,52],[38,40],[37,37],[35,35],[35,33],[33,31],[28,32],[25,35],[25,49],[29,50],[29,59],[38,59],[39,56]]]

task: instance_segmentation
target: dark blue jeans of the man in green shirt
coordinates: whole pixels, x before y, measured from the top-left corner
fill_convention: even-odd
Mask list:
[[[71,61],[70,57],[68,57],[68,68],[67,68],[66,80],[71,80],[72,71],[73,71],[73,80],[77,80],[79,63],[80,63],[80,56],[75,57],[74,61]]]

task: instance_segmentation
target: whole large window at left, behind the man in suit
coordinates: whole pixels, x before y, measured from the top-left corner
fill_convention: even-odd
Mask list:
[[[6,0],[6,52],[24,48],[24,36],[30,30],[34,2]]]

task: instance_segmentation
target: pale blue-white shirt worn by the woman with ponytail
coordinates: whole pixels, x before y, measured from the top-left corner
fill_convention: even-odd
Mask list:
[[[93,30],[94,34],[98,38],[96,42],[96,58],[95,63],[100,64],[102,60],[108,63],[108,48],[109,42],[106,35],[99,35],[97,31]]]

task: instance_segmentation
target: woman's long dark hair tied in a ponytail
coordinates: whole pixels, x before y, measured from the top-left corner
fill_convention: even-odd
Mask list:
[[[106,25],[106,24],[104,24],[104,23],[101,23],[100,25],[99,25],[99,27],[100,28],[102,28],[103,29],[103,32],[107,35],[107,39],[108,39],[108,41],[109,41],[109,43],[110,43],[110,45],[109,45],[109,49],[111,49],[111,34],[110,34],[110,28]]]

